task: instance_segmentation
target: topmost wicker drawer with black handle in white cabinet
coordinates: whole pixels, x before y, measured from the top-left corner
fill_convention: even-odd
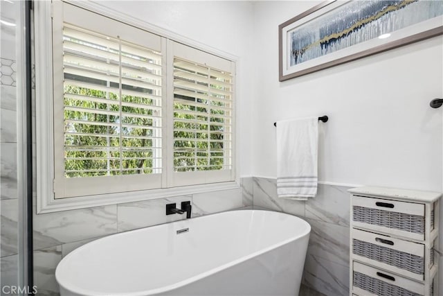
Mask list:
[[[424,240],[424,204],[354,195],[352,222],[354,227]]]

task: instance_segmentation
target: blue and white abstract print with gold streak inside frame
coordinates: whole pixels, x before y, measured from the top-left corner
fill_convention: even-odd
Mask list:
[[[443,15],[443,1],[350,1],[289,31],[290,66]]]

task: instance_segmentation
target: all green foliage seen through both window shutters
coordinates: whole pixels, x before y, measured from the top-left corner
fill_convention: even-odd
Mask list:
[[[147,107],[122,105],[122,114],[126,115],[120,117],[118,95],[115,93],[71,85],[66,85],[64,91],[66,177],[153,172],[153,130],[149,129],[153,120],[136,116],[153,115],[152,109],[149,108],[153,103],[152,99],[123,95],[123,104],[135,103]],[[82,95],[86,99],[71,98],[69,94]],[[87,97],[103,100],[89,101]],[[104,100],[109,103],[105,103]],[[218,110],[217,106],[223,107],[224,103],[213,101],[208,107],[174,103],[176,171],[210,171],[224,168],[224,118],[217,115],[224,116],[225,111]],[[78,109],[71,110],[69,107]],[[199,112],[201,115],[186,114],[186,111]],[[123,147],[121,170],[120,134]]]

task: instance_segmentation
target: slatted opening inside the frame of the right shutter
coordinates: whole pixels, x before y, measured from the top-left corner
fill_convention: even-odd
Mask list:
[[[231,167],[232,76],[174,59],[174,169],[213,171]]]

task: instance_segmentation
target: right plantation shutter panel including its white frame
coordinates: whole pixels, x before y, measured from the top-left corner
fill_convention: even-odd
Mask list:
[[[174,185],[234,180],[233,62],[173,46]]]

